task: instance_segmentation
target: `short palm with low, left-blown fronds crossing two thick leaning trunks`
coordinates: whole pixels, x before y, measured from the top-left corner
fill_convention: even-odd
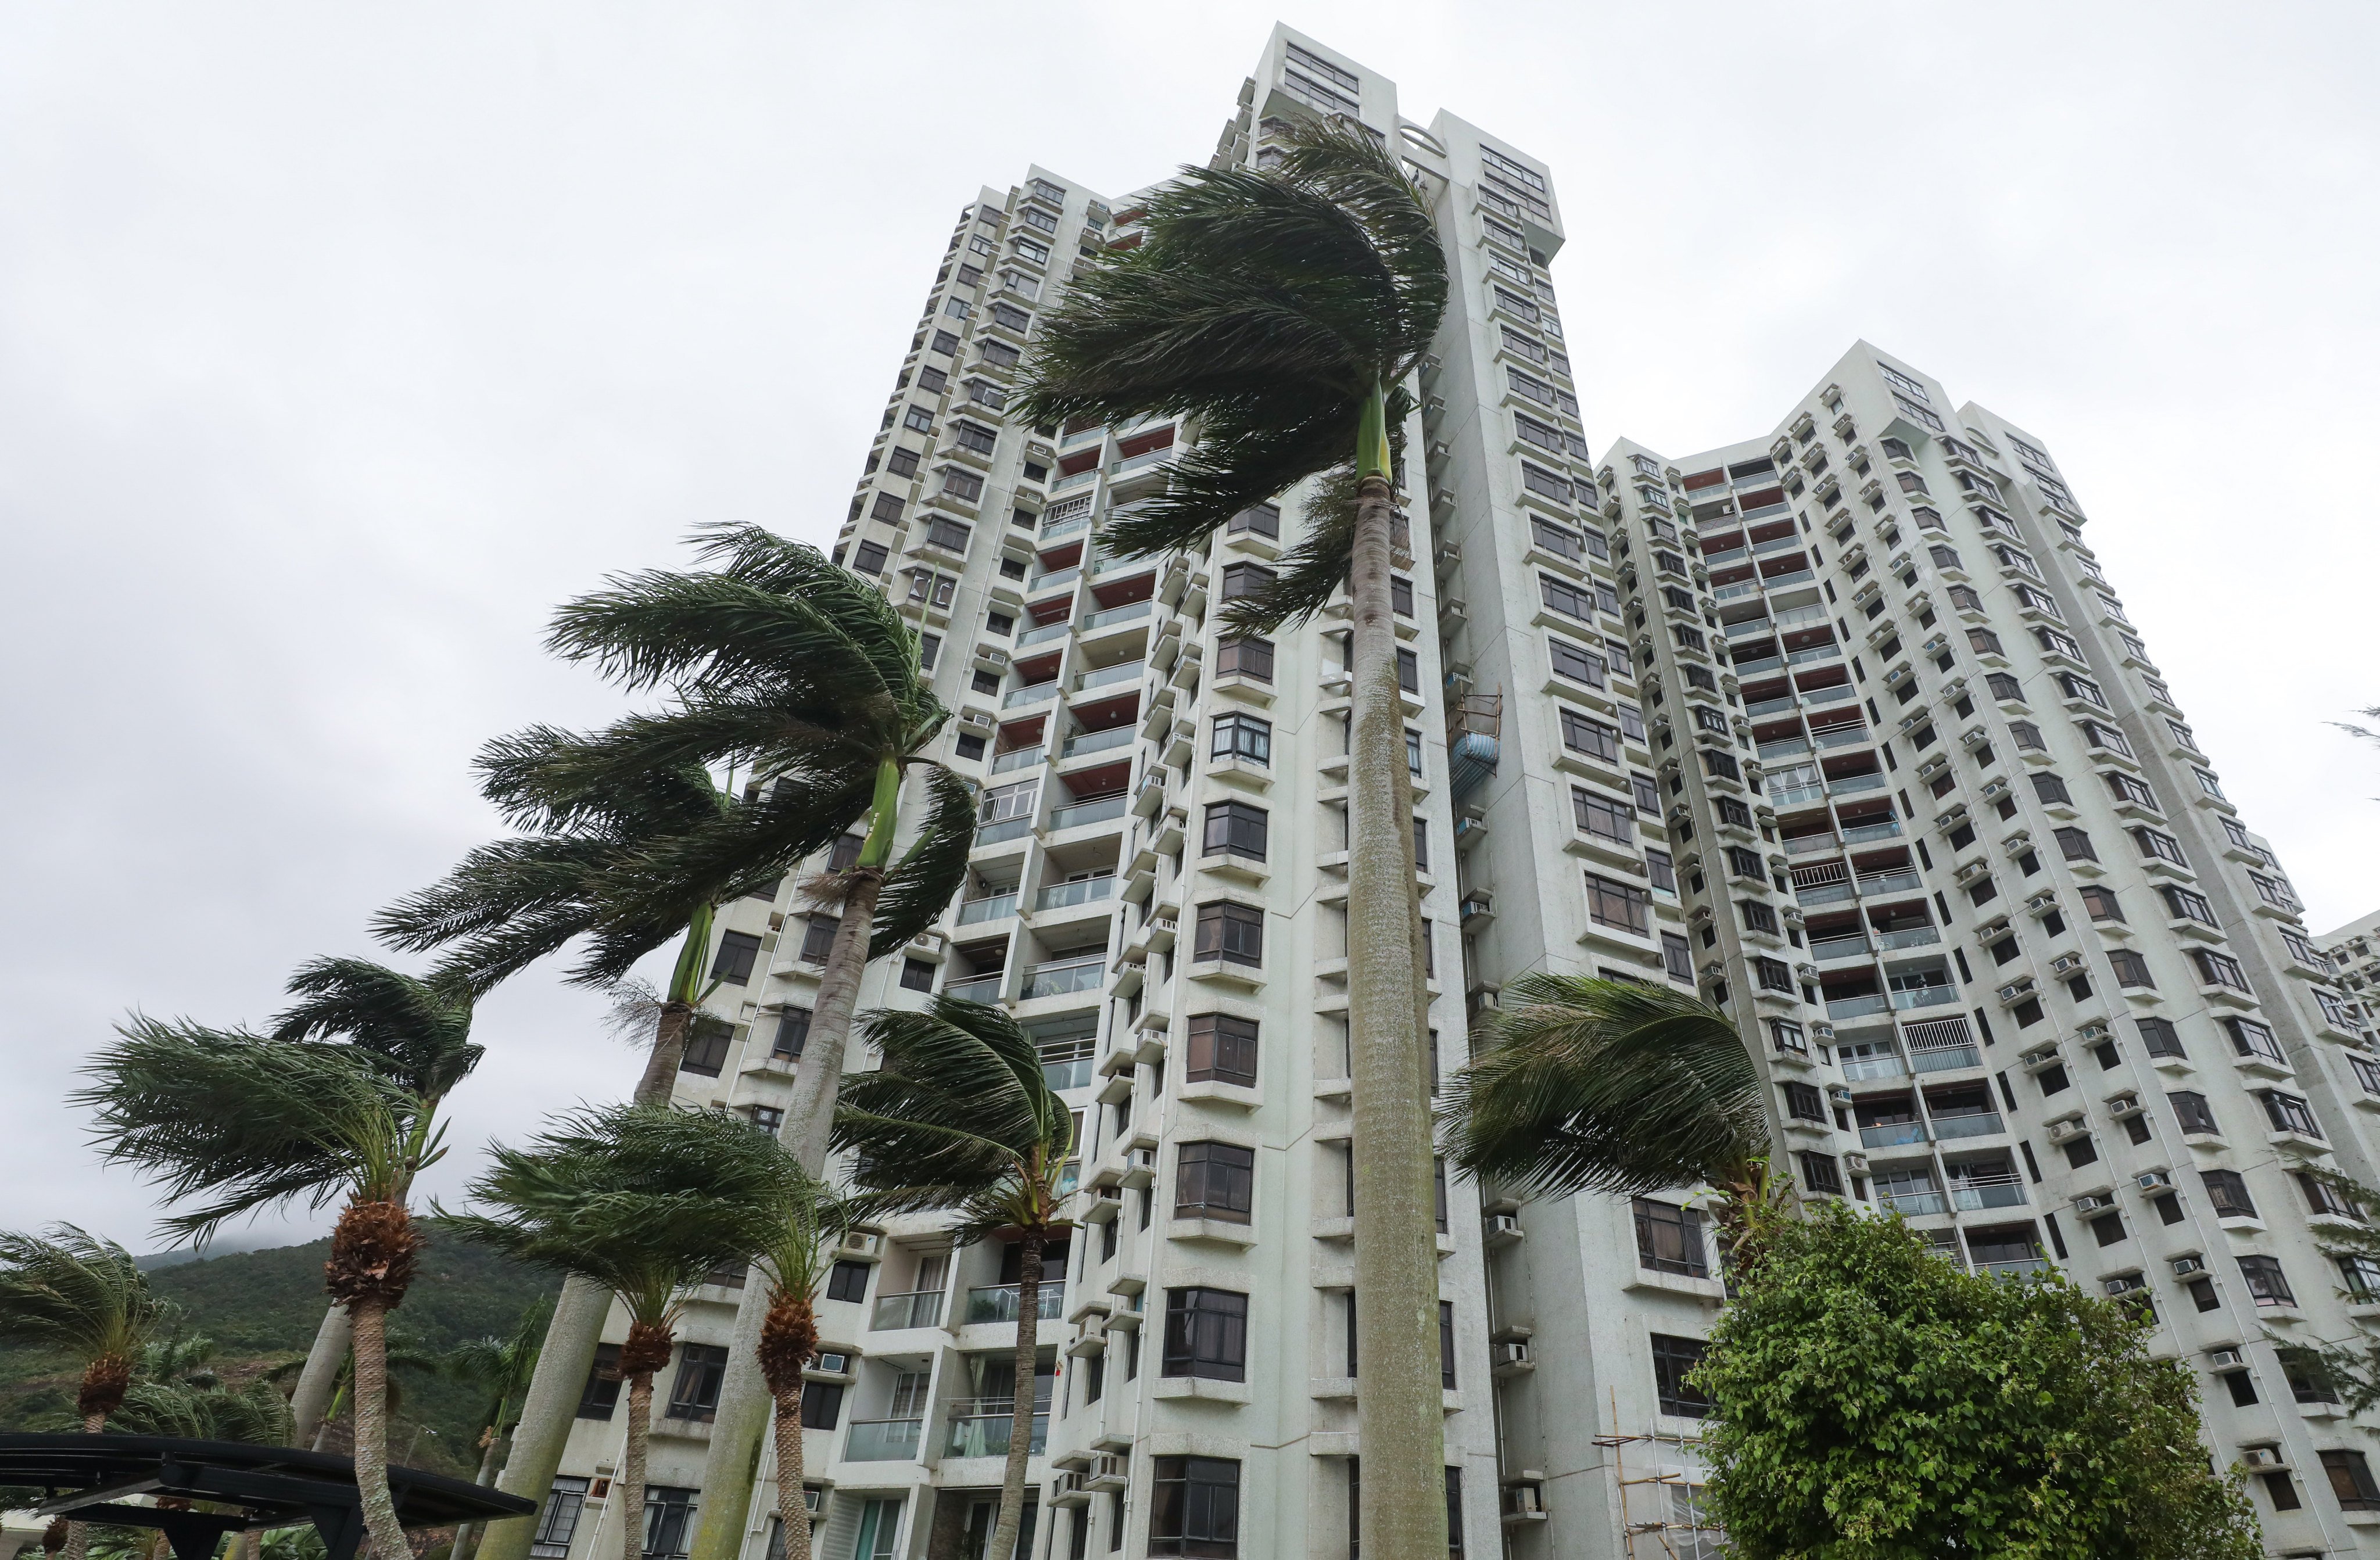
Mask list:
[[[709,1111],[612,1106],[564,1118],[526,1149],[490,1144],[471,1182],[486,1213],[445,1215],[464,1237],[524,1263],[576,1272],[628,1310],[619,1472],[621,1560],[643,1550],[652,1375],[669,1365],[683,1289],[776,1234],[771,1215],[802,1182],[766,1134]]]

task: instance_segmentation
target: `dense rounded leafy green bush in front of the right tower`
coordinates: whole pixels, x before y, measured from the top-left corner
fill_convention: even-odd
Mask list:
[[[2063,1277],[1971,1277],[1897,1218],[1752,1213],[1695,1382],[1740,1560],[2251,1560],[2197,1382]]]

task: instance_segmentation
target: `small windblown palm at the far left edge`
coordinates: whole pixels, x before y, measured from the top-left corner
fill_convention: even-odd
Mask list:
[[[133,1365],[164,1320],[164,1301],[124,1246],[74,1225],[0,1232],[0,1344],[60,1348],[83,1363],[74,1410],[86,1436],[124,1405]],[[88,1541],[90,1529],[71,1522],[67,1560],[81,1560]]]

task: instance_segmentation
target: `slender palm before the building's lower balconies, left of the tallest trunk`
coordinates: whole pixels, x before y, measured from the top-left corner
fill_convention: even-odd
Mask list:
[[[1014,1237],[1016,1386],[1000,1520],[985,1555],[1016,1550],[1033,1455],[1033,1377],[1040,1358],[1042,1251],[1061,1218],[1073,1113],[1042,1077],[1040,1046],[1014,1018],[938,996],[921,1013],[866,1018],[883,1068],[852,1080],[835,1146],[859,1151],[862,1206],[883,1213],[950,1208],[959,1244]]]

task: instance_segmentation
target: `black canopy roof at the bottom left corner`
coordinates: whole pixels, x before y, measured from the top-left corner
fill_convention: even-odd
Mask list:
[[[38,1517],[159,1529],[174,1546],[174,1560],[212,1560],[224,1534],[298,1522],[314,1524],[328,1560],[352,1560],[364,1539],[355,1462],[288,1446],[0,1434],[0,1486],[48,1491],[31,1508]],[[405,1527],[526,1517],[538,1510],[536,1501],[416,1467],[390,1467],[388,1491]],[[133,1505],[138,1496],[157,1503]],[[209,1510],[198,1510],[200,1505]]]

